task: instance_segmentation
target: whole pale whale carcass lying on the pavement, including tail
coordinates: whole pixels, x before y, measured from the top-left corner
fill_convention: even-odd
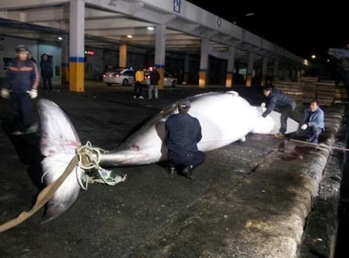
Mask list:
[[[276,134],[280,127],[279,112],[271,112],[263,118],[264,110],[251,106],[237,92],[209,92],[190,97],[189,114],[196,117],[202,127],[199,150],[207,152],[222,148],[234,141],[244,141],[250,132]],[[45,183],[58,178],[81,146],[78,135],[65,113],[52,101],[38,102],[41,118],[41,153]],[[165,121],[178,112],[177,102],[167,106],[149,119],[139,130],[121,143],[118,148],[101,155],[100,166],[132,166],[155,163],[167,159]],[[295,132],[298,123],[288,119],[286,133]],[[83,169],[75,168],[47,204],[44,221],[61,215],[78,197]]]

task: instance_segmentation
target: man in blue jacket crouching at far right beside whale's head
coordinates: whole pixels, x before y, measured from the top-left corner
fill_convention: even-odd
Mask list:
[[[319,143],[319,135],[324,131],[324,128],[324,111],[319,108],[319,103],[313,100],[309,108],[304,110],[297,136],[307,138],[306,141],[312,143]]]

